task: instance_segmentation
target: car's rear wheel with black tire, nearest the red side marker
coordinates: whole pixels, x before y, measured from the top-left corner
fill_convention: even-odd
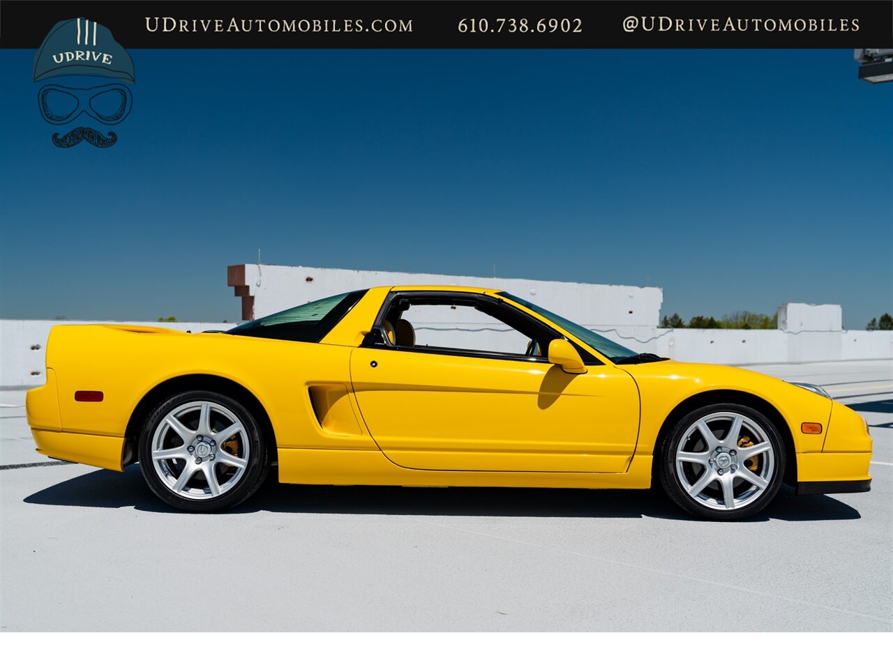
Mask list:
[[[255,417],[218,392],[180,392],[146,418],[139,466],[149,488],[172,507],[219,511],[263,483],[270,456]]]

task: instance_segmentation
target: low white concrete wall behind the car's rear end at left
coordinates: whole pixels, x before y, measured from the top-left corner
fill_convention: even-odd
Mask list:
[[[0,387],[43,385],[46,379],[46,340],[53,326],[109,323],[96,320],[0,320]],[[133,321],[141,326],[171,330],[229,330],[232,323],[169,323]]]

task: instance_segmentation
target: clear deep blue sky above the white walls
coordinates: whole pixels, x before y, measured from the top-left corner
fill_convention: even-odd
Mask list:
[[[236,320],[258,248],[893,310],[893,84],[851,51],[130,53],[118,145],[63,150],[0,52],[0,318]]]

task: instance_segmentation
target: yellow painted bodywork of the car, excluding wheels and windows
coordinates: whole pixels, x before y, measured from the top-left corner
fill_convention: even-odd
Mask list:
[[[872,442],[861,417],[746,369],[615,365],[553,324],[604,364],[569,374],[545,361],[360,347],[392,289],[494,293],[372,288],[319,344],[55,326],[46,384],[27,399],[38,451],[120,470],[125,428],[146,393],[179,376],[210,375],[242,385],[263,406],[285,482],[642,488],[672,410],[704,392],[739,391],[778,409],[801,480],[868,477]],[[104,401],[75,402],[74,392],[85,389],[104,392]],[[825,434],[803,434],[804,422],[827,425]]]

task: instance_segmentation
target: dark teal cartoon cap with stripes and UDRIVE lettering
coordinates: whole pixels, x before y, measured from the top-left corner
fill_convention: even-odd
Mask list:
[[[112,31],[96,21],[59,21],[34,56],[34,80],[64,74],[93,74],[136,83],[133,61],[114,41]]]

